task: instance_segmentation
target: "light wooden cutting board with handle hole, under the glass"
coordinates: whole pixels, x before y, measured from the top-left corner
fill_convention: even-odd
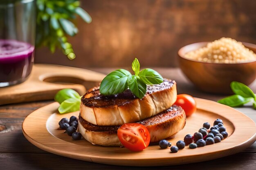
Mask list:
[[[105,75],[94,71],[51,64],[34,64],[29,78],[18,85],[0,87],[0,105],[53,99],[63,88],[80,95],[99,84]]]

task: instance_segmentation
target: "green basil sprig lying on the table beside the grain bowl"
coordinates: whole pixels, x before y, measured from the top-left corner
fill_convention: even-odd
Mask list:
[[[252,106],[256,110],[256,94],[254,94],[252,89],[240,82],[231,82],[230,87],[235,95],[220,99],[218,103],[230,107],[240,107],[248,102],[254,101]]]

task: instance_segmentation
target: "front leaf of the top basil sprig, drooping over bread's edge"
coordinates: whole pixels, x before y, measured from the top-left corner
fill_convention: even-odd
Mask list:
[[[142,99],[147,92],[147,85],[135,75],[132,75],[132,78],[128,81],[128,87],[139,99]]]

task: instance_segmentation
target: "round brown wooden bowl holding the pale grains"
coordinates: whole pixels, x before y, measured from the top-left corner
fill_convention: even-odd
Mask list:
[[[241,82],[247,86],[256,79],[256,60],[236,64],[207,63],[185,58],[185,54],[207,45],[198,42],[182,47],[178,51],[180,68],[195,86],[210,93],[231,94],[230,83]],[[256,45],[243,42],[256,53]]]

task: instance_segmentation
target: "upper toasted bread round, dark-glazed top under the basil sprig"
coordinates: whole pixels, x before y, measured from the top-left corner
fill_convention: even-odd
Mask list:
[[[81,98],[80,113],[91,124],[122,125],[154,116],[170,108],[176,99],[176,82],[169,79],[147,86],[142,99],[135,97],[129,89],[117,95],[103,96],[99,87],[95,87]]]

